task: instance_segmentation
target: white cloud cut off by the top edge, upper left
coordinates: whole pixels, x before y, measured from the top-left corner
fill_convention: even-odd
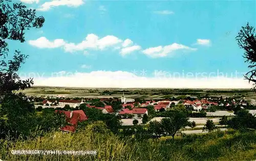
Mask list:
[[[53,0],[50,2],[45,2],[40,6],[39,11],[48,11],[52,7],[57,6],[69,6],[69,7],[78,7],[83,4],[83,0]]]

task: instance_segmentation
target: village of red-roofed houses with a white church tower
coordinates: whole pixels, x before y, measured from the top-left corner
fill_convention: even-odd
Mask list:
[[[39,102],[39,100],[42,100]],[[202,127],[207,120],[212,120],[216,124],[219,123],[220,117],[236,116],[234,112],[237,109],[247,109],[249,113],[255,114],[256,107],[247,102],[244,97],[205,97],[198,99],[197,97],[187,96],[184,99],[132,99],[126,98],[124,93],[121,98],[67,98],[63,95],[48,96],[48,97],[34,97],[30,96],[28,101],[35,104],[37,111],[42,109],[54,109],[64,113],[67,118],[71,118],[70,126],[62,127],[63,131],[75,131],[77,122],[87,120],[86,114],[79,110],[80,106],[87,106],[87,108],[98,109],[103,114],[112,114],[121,119],[122,126],[133,126],[134,120],[137,120],[138,125],[146,125],[153,120],[161,121],[164,118],[164,112],[171,110],[177,106],[184,106],[190,111],[190,121],[195,121],[197,127]],[[114,110],[111,102],[119,101],[120,108]],[[152,112],[154,110],[154,114]],[[149,119],[143,121],[143,117]],[[202,131],[201,131],[202,132]]]

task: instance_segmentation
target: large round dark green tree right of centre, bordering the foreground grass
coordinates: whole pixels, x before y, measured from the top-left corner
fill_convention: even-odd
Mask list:
[[[172,113],[168,115],[168,118],[163,118],[161,120],[164,135],[170,135],[174,139],[174,136],[181,128],[189,125],[188,119],[186,113],[183,111],[172,111]]]

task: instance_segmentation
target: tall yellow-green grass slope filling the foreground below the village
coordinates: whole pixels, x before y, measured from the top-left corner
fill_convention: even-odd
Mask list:
[[[13,155],[11,150],[96,150],[97,155]],[[109,133],[51,132],[30,140],[0,141],[4,160],[255,160],[256,133],[216,131],[184,135],[175,140],[120,139]]]

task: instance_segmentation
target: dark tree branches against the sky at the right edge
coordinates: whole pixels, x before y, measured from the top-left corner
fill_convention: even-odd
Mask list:
[[[238,36],[236,37],[240,48],[244,49],[245,62],[249,63],[248,68],[250,71],[245,74],[245,79],[249,82],[253,82],[252,89],[256,89],[256,34],[255,29],[247,23],[246,26],[242,26]]]

